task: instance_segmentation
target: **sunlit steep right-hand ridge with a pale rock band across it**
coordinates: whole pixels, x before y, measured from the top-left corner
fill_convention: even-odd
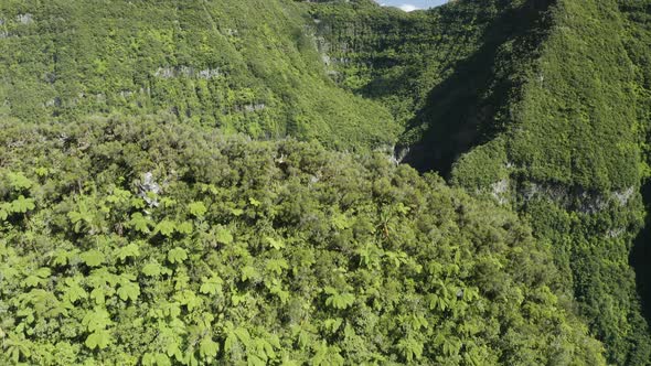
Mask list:
[[[651,341],[629,267],[642,224],[639,146],[648,120],[636,114],[645,101],[623,17],[616,1],[558,1],[553,26],[509,132],[462,159],[456,179],[510,192],[554,247],[609,360],[648,364]],[[487,162],[499,169],[487,172]]]

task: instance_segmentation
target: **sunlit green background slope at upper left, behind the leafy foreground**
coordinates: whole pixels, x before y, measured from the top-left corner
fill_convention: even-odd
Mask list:
[[[391,115],[328,79],[306,17],[281,0],[2,1],[0,116],[169,110],[260,138],[391,143]]]

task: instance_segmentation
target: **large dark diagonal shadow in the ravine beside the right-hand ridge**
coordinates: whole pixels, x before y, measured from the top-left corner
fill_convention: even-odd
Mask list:
[[[406,163],[448,177],[459,155],[503,131],[508,105],[522,84],[512,75],[535,58],[553,2],[531,0],[491,23],[482,47],[455,65],[455,73],[430,92],[425,107],[409,121],[405,136],[419,136],[419,140],[405,139]],[[509,41],[512,51],[501,55],[501,46]]]

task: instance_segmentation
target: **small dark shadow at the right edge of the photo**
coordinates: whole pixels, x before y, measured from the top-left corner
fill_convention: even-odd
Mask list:
[[[651,182],[642,189],[647,213],[651,209]],[[642,301],[642,313],[651,324],[651,216],[647,217],[644,229],[638,235],[631,251],[631,265],[636,270],[636,284]]]

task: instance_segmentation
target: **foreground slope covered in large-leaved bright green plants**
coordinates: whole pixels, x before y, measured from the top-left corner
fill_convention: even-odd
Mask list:
[[[385,155],[111,118],[0,161],[3,365],[605,365],[514,214]]]

